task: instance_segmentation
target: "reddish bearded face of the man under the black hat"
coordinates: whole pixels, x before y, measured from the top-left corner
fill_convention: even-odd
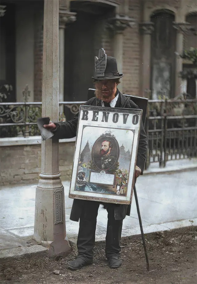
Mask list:
[[[109,103],[115,97],[116,81],[114,79],[98,80],[95,83],[95,89],[96,97]]]

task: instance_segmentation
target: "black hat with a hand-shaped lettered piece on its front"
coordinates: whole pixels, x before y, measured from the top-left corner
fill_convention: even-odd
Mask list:
[[[94,59],[94,76],[96,80],[109,80],[122,78],[123,74],[119,74],[115,57],[107,56],[103,48],[99,49],[98,57]]]

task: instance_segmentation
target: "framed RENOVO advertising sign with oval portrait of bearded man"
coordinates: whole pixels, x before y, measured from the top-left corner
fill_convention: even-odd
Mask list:
[[[80,106],[70,198],[130,204],[142,112]]]

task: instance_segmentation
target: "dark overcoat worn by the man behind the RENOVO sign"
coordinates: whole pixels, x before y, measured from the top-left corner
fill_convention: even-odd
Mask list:
[[[84,105],[91,105],[91,106],[102,106],[101,100],[97,99],[96,97],[91,98],[88,100]],[[130,99],[126,98],[123,94],[119,92],[119,99],[115,105],[116,108],[133,108],[136,109],[139,107]],[[57,128],[55,130],[55,137],[58,139],[65,139],[65,138],[73,138],[77,134],[77,126],[78,126],[78,115],[74,117],[73,120],[70,121],[60,121],[55,123]],[[139,136],[139,147],[138,147],[138,155],[136,165],[143,170],[145,167],[146,162],[146,153],[147,153],[147,135],[144,130],[143,124],[141,124],[140,129],[140,136]],[[80,218],[81,212],[84,206],[87,206],[86,200],[81,199],[74,199],[73,206],[70,214],[70,220],[77,221]],[[130,208],[131,205],[124,205],[124,204],[114,204],[114,217],[115,220],[122,220],[126,217],[126,215],[130,215]]]

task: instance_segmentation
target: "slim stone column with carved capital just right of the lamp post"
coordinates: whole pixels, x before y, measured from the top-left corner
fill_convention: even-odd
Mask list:
[[[64,53],[65,53],[65,28],[76,20],[76,13],[65,9],[59,10],[59,101],[64,101]],[[63,113],[63,105],[59,107]]]

